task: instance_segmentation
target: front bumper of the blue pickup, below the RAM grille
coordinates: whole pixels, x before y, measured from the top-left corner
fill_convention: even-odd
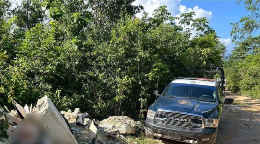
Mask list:
[[[190,130],[185,128],[164,127],[155,125],[152,119],[146,118],[145,125],[154,136],[172,139],[186,143],[212,144],[217,134],[217,128],[203,128],[202,130]],[[170,135],[178,134],[178,139]]]

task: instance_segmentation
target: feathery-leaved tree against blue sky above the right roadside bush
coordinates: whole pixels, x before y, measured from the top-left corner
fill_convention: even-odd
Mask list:
[[[238,1],[238,4],[241,2]],[[233,29],[230,34],[237,45],[231,58],[235,59],[260,52],[260,0],[246,0],[244,7],[250,15],[242,17],[237,23],[231,23]]]

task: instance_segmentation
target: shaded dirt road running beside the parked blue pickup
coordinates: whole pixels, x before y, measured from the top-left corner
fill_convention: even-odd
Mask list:
[[[226,92],[234,104],[223,108],[217,144],[260,144],[260,101]],[[185,144],[159,139],[160,144]]]

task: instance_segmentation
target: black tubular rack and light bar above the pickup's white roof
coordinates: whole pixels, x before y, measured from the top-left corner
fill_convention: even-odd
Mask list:
[[[195,69],[194,69],[195,68]],[[183,75],[185,72],[202,72],[202,73],[215,73],[220,75],[220,85],[223,89],[224,87],[224,81],[225,81],[225,74],[224,69],[222,67],[218,66],[188,66],[187,69],[184,69],[180,75]],[[192,77],[177,77],[179,79],[196,79],[196,80],[202,80],[202,81],[215,81],[215,79],[209,79],[209,78],[192,78]]]

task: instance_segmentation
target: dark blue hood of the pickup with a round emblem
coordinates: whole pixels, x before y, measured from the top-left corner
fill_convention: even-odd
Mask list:
[[[159,109],[188,112],[202,115],[204,118],[207,118],[218,109],[218,105],[218,103],[210,103],[195,99],[159,97],[158,100],[151,105],[151,110],[154,110],[155,112]]]

